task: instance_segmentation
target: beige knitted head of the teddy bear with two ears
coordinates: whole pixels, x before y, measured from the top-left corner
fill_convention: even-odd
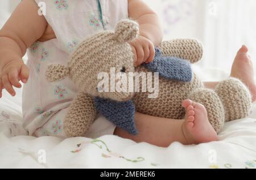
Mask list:
[[[126,30],[127,28],[129,30]],[[81,91],[94,97],[110,98],[117,101],[127,99],[132,94],[112,92],[103,95],[99,93],[97,77],[100,72],[108,73],[111,77],[111,68],[115,68],[116,73],[123,69],[126,72],[134,72],[134,55],[128,42],[137,35],[138,24],[131,20],[125,20],[118,23],[115,33],[104,31],[88,37],[73,52],[67,68],[61,65],[50,65],[46,72],[46,78],[48,81],[61,80],[67,76],[63,69],[69,69],[69,77]],[[115,79],[111,79],[111,81],[115,81]]]

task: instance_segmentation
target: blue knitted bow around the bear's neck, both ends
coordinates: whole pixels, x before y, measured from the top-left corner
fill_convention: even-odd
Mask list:
[[[155,49],[155,59],[149,64],[143,64],[151,72],[158,72],[160,77],[171,81],[190,82],[192,79],[191,64],[177,57],[164,57],[159,49]],[[94,104],[98,112],[117,127],[125,129],[132,135],[137,135],[133,101],[117,102],[109,99],[95,98]]]

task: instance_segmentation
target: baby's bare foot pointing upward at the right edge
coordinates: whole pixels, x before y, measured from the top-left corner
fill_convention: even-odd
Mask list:
[[[256,100],[256,85],[254,81],[254,70],[251,58],[247,55],[248,48],[243,45],[237,52],[237,56],[234,59],[231,77],[240,79],[249,88],[253,102]]]

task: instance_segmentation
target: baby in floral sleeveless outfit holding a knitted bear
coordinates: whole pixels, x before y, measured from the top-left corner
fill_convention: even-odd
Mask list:
[[[45,77],[47,66],[67,64],[69,55],[82,40],[100,31],[113,30],[119,20],[127,18],[136,20],[140,26],[139,36],[130,42],[135,65],[152,62],[154,47],[160,44],[163,34],[158,16],[142,0],[20,2],[0,31],[0,98],[2,89],[14,96],[13,87],[20,88],[20,81],[25,83],[23,118],[24,128],[30,135],[67,137],[63,119],[77,89],[70,79],[48,83]],[[26,51],[27,65],[22,60]],[[245,46],[238,51],[231,76],[246,83],[254,101],[256,86],[247,51]],[[205,85],[214,88],[217,82]],[[137,136],[114,127],[102,117],[94,121],[85,136],[94,138],[114,134],[159,146],[168,146],[174,141],[199,144],[217,140],[217,133],[208,122],[203,105],[185,100],[182,106],[186,110],[183,120],[137,113]]]

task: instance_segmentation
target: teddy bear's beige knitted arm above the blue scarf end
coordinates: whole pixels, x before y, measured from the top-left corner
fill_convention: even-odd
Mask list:
[[[174,56],[190,61],[192,64],[203,57],[203,47],[194,39],[175,39],[163,41],[158,47],[163,56]]]

